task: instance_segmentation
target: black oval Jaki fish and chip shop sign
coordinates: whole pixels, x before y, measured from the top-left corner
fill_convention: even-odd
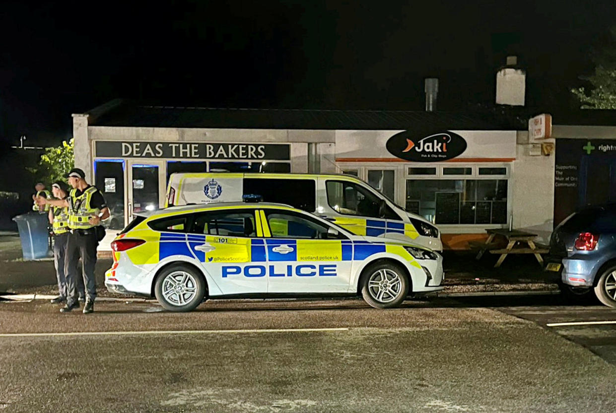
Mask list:
[[[466,150],[466,141],[452,131],[416,136],[404,131],[387,140],[389,153],[411,162],[440,162],[461,155]]]

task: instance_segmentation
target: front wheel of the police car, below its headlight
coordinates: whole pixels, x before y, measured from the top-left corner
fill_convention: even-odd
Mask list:
[[[375,308],[399,306],[408,293],[408,278],[400,266],[380,263],[369,266],[362,277],[362,296]]]

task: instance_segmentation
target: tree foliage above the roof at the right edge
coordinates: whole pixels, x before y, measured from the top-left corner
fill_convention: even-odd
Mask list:
[[[590,91],[587,93],[583,87],[571,89],[582,109],[616,109],[616,26],[610,29],[609,39],[602,44],[602,49],[591,53],[594,73],[580,76],[590,82]]]

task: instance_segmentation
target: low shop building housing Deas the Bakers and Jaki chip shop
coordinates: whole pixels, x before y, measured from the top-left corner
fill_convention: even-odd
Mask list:
[[[110,237],[135,211],[164,205],[168,177],[180,171],[354,174],[436,223],[446,248],[510,223],[544,239],[553,227],[554,156],[529,150],[521,118],[115,100],[73,124],[76,165],[111,208]],[[405,152],[407,139],[416,146]],[[426,157],[409,158],[419,145]]]

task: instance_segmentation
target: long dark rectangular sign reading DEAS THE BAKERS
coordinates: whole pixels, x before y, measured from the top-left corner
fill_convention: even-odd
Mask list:
[[[290,159],[289,144],[95,141],[94,150],[101,158]]]

